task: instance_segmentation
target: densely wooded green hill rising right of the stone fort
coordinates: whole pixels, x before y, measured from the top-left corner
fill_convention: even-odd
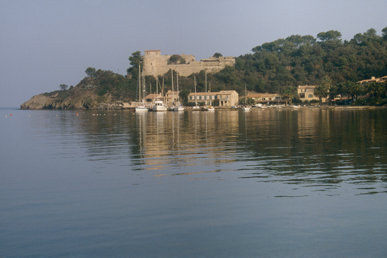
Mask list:
[[[256,92],[317,85],[325,76],[334,84],[382,77],[387,75],[387,27],[381,32],[379,36],[369,29],[349,41],[333,30],[318,33],[317,39],[292,35],[238,56],[235,70],[239,81],[246,80],[247,87]]]

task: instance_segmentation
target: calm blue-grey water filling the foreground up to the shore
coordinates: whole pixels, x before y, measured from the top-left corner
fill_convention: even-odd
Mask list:
[[[2,109],[0,130],[0,257],[387,256],[387,110]]]

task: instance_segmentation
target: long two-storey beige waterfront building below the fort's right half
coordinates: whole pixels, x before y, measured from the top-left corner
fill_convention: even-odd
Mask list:
[[[188,102],[213,102],[219,100],[219,106],[232,107],[238,105],[239,94],[236,91],[197,92],[188,94]]]

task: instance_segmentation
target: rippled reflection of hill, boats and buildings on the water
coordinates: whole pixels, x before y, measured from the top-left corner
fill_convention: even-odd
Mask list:
[[[41,136],[59,140],[60,155],[86,153],[101,169],[281,183],[306,195],[335,195],[347,184],[358,194],[386,188],[386,110],[57,113],[40,120]]]

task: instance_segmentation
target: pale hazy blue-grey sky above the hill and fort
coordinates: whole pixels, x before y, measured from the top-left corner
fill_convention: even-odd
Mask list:
[[[76,86],[93,67],[126,75],[135,51],[224,56],[290,35],[343,40],[387,27],[386,0],[0,0],[0,107]]]

